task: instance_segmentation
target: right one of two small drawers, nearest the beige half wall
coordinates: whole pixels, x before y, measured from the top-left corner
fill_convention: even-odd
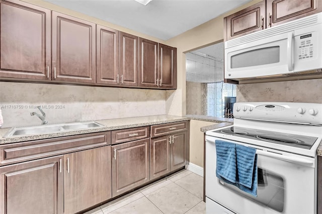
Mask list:
[[[151,138],[167,135],[175,132],[185,131],[189,127],[189,121],[169,123],[151,126]]]

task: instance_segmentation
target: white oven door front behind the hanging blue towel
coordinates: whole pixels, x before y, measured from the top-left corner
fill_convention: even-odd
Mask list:
[[[206,136],[207,213],[316,213],[316,158],[225,140],[257,149],[254,197],[216,177],[215,140],[225,139]]]

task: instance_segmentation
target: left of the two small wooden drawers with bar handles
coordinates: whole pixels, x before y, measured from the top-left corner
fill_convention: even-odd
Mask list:
[[[112,145],[129,142],[133,140],[139,140],[143,138],[148,138],[149,135],[150,135],[150,128],[148,126],[115,130],[115,131],[112,131],[111,133]]]

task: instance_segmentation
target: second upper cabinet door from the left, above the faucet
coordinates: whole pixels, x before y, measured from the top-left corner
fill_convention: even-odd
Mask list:
[[[96,82],[95,24],[52,12],[52,79]]]

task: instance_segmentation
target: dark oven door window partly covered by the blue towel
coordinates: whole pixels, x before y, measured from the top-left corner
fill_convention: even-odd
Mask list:
[[[257,197],[254,197],[251,194],[248,194],[244,191],[241,191],[237,187],[224,183],[221,180],[218,180],[220,185],[229,188],[236,193],[248,197],[251,200],[254,200],[264,206],[270,207],[278,212],[284,210],[284,200],[285,200],[285,187],[284,180],[281,176],[270,172],[265,169],[258,168],[258,187],[257,187]]]

